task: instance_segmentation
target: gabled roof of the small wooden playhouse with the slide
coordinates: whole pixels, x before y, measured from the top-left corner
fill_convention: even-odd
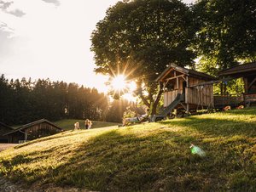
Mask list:
[[[155,82],[160,82],[162,81],[165,76],[168,75],[169,72],[171,72],[172,70],[174,71],[179,71],[187,76],[194,76],[194,77],[199,77],[201,79],[205,79],[205,80],[216,80],[217,78],[215,78],[214,76],[210,76],[206,73],[202,73],[202,72],[199,72],[199,71],[195,71],[195,70],[190,70],[190,69],[186,69],[186,68],[183,68],[183,67],[180,67],[180,66],[177,66],[177,65],[174,65],[174,64],[171,64],[169,65],[165,71],[163,71],[160,76],[158,76],[156,79],[155,79]]]

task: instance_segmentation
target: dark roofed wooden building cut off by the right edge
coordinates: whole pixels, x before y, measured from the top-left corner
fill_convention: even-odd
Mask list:
[[[242,100],[245,104],[256,104],[256,62],[237,65],[230,69],[220,71],[220,78],[242,78],[244,90]]]

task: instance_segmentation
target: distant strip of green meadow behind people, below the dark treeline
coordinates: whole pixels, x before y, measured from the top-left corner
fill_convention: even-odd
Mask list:
[[[61,127],[64,130],[73,130],[74,123],[79,122],[80,128],[84,129],[84,120],[77,120],[77,119],[65,119],[61,121],[55,121],[55,125]],[[92,121],[92,128],[99,128],[99,127],[110,127],[110,126],[117,126],[118,123],[116,122],[103,122],[103,121]]]

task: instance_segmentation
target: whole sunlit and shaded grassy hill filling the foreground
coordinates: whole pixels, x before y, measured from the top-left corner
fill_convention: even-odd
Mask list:
[[[14,181],[100,191],[256,191],[256,108],[67,131],[0,153]],[[206,156],[192,155],[190,143]]]

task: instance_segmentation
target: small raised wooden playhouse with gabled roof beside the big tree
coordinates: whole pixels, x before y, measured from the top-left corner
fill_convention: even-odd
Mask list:
[[[214,106],[213,83],[203,83],[214,80],[215,77],[206,73],[177,65],[169,65],[156,79],[157,82],[164,83],[164,107],[172,104],[175,105],[173,109],[184,109],[187,112]],[[178,93],[183,97],[177,102]]]

